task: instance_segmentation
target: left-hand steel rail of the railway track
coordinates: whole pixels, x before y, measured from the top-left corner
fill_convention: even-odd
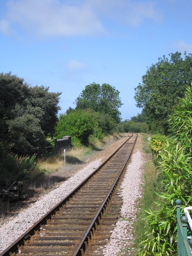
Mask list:
[[[85,185],[92,176],[94,176],[94,174],[96,174],[116,153],[118,150],[120,150],[120,148],[127,142],[129,141],[129,139],[131,139],[131,137],[133,136],[133,134],[119,147],[117,148],[117,150],[115,150],[115,152],[113,152],[113,154],[111,154],[111,156],[109,156],[109,158],[102,163],[96,170],[94,170],[88,177],[86,177],[86,179],[84,179],[75,189],[73,189],[73,191],[71,191],[67,196],[65,196],[65,198],[63,198],[63,200],[61,200],[60,202],[58,202],[58,204],[56,204],[56,206],[54,206],[52,209],[50,209],[44,216],[42,216],[38,221],[36,221],[35,224],[33,224],[31,226],[31,228],[29,228],[25,233],[23,233],[23,235],[21,235],[21,237],[19,237],[15,242],[13,242],[10,246],[8,246],[8,248],[6,248],[1,254],[0,256],[10,256],[10,253],[15,252],[18,250],[17,246],[21,246],[24,244],[24,240],[28,239],[31,235],[35,234],[35,231],[37,229],[40,228],[40,225],[44,224],[46,222],[47,219],[50,219],[51,216],[53,214],[56,213],[57,210],[59,210],[59,208],[65,204],[67,201],[69,201],[69,199],[77,192],[79,191],[79,189],[81,189],[81,187],[83,187],[83,185]]]

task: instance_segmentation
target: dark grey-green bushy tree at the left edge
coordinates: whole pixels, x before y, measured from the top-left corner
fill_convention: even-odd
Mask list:
[[[59,92],[29,86],[24,79],[0,73],[0,141],[16,154],[44,151],[45,136],[54,133]]]

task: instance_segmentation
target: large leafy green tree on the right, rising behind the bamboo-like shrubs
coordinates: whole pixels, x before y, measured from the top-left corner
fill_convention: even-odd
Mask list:
[[[169,56],[170,60],[163,56],[152,64],[143,75],[142,84],[135,88],[136,106],[143,108],[148,124],[156,121],[162,126],[184,96],[192,77],[192,54],[185,52],[184,60],[179,52]]]

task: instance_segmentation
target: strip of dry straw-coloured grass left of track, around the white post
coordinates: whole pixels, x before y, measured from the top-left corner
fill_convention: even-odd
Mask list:
[[[108,145],[123,137],[123,134],[107,135],[102,141],[95,140],[94,149],[82,146],[81,148],[71,148],[60,156],[50,156],[39,158],[37,164],[42,170],[37,175],[31,175],[31,189],[50,189],[73,175],[78,169],[86,164],[98,151],[103,150]],[[64,167],[66,166],[66,167]],[[28,183],[28,182],[27,182]]]

